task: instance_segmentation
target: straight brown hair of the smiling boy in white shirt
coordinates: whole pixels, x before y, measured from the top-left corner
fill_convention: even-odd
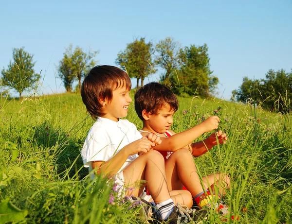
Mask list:
[[[112,100],[112,91],[126,86],[131,89],[131,80],[128,74],[114,66],[95,66],[85,76],[81,85],[81,97],[93,120],[105,115],[102,112],[102,102]]]

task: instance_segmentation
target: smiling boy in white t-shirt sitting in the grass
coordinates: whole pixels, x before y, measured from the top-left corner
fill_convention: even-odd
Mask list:
[[[128,74],[113,66],[96,66],[85,76],[82,101],[96,121],[81,150],[84,166],[95,174],[116,177],[121,192],[128,187],[125,195],[142,195],[146,184],[141,182],[137,187],[137,182],[146,180],[160,220],[190,222],[194,214],[182,217],[178,213],[179,204],[175,206],[180,203],[191,207],[190,192],[168,191],[164,158],[152,149],[161,143],[160,137],[148,134],[142,138],[134,124],[120,119],[127,116],[132,102],[130,88]]]

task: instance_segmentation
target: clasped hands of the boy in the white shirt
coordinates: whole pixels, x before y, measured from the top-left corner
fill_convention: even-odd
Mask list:
[[[125,150],[127,150],[128,155],[134,155],[140,152],[147,153],[154,146],[155,144],[153,142],[143,137],[126,145]]]

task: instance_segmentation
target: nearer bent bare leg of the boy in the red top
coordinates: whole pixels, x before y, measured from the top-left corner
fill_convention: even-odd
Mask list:
[[[165,162],[166,180],[169,190],[186,187],[196,196],[203,191],[193,155],[187,149],[173,152]]]

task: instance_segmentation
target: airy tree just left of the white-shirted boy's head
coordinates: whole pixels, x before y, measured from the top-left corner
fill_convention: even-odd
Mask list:
[[[63,81],[66,91],[71,92],[73,82],[78,82],[78,88],[81,87],[81,79],[95,65],[93,57],[98,51],[83,52],[82,48],[76,47],[73,50],[73,44],[65,48],[64,57],[60,60],[58,66],[58,76]]]

